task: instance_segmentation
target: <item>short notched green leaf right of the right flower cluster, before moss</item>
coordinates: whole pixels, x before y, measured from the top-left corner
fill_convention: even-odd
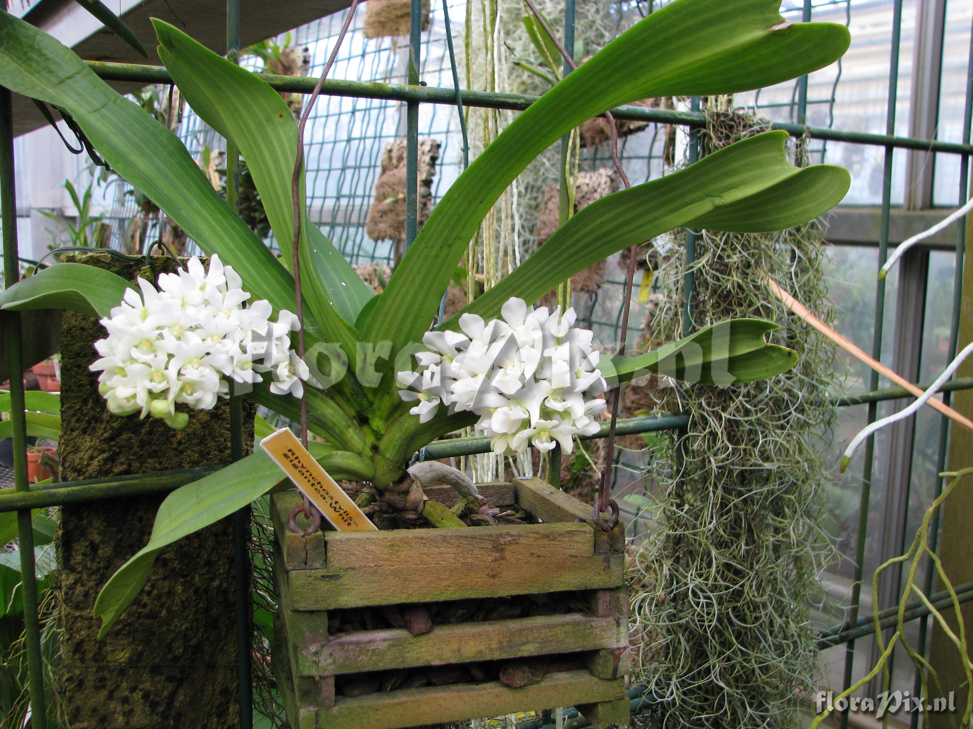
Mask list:
[[[649,372],[703,385],[764,380],[797,364],[794,350],[765,341],[764,335],[775,329],[763,319],[730,319],[644,355],[615,355],[598,367],[610,384]]]

